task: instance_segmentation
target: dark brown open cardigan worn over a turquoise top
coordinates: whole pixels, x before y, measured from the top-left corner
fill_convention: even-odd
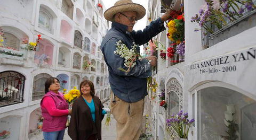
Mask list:
[[[104,118],[102,115],[103,104],[96,96],[93,98],[95,106],[95,120],[98,134],[97,139],[101,139],[101,121]],[[87,140],[93,133],[93,120],[89,106],[87,106],[83,97],[79,97],[75,100],[70,124],[68,127],[68,135],[73,140]]]

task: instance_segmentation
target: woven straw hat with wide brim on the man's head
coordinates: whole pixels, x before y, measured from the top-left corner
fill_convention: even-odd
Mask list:
[[[119,0],[117,1],[114,6],[108,8],[105,13],[104,17],[108,21],[114,21],[114,15],[119,12],[125,11],[135,11],[137,12],[137,20],[142,19],[143,16],[146,14],[145,8],[137,3],[133,3],[131,0]]]

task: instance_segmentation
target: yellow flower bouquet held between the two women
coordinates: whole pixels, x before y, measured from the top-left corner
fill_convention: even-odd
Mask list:
[[[63,90],[64,91],[64,90]],[[66,92],[66,91],[65,91]],[[64,94],[64,99],[67,100],[68,104],[69,104],[69,109],[72,108],[72,105],[75,101],[76,98],[80,97],[81,93],[79,90],[76,89],[76,86],[74,86],[74,88],[72,90],[70,90],[68,93]],[[70,123],[70,115],[68,115],[68,120],[66,123],[66,127],[69,126]]]

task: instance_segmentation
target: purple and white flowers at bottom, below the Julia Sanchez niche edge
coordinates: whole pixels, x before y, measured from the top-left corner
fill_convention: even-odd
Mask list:
[[[181,110],[176,115],[172,115],[170,119],[166,119],[167,127],[171,127],[179,138],[188,138],[190,126],[194,123],[194,119],[188,119],[188,113]]]

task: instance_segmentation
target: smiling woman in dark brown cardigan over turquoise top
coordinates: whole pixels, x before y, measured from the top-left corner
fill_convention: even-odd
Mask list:
[[[73,140],[101,139],[101,121],[104,114],[103,105],[89,80],[80,84],[81,97],[77,98],[72,107],[68,135]]]

